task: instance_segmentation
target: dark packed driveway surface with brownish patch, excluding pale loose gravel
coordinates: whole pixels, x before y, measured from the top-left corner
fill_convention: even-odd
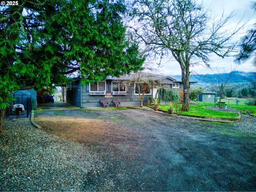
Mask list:
[[[235,125],[135,109],[36,116],[45,131],[90,146],[105,162],[97,178],[86,175],[94,190],[106,180],[112,190],[256,190],[255,135]]]

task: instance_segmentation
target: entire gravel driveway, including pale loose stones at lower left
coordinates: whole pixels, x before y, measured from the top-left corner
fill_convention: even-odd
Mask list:
[[[256,135],[236,124],[137,109],[44,111],[35,121],[42,130],[1,136],[0,190],[256,190]]]

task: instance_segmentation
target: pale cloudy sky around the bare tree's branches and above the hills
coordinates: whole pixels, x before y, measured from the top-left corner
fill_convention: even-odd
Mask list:
[[[256,13],[251,9],[251,0],[202,0],[198,2],[202,2],[206,7],[211,7],[211,10],[214,15],[217,15],[217,18],[221,16],[224,11],[225,15],[228,15],[230,12],[235,11],[236,15],[230,21],[228,28],[233,28],[241,18],[243,18],[242,23],[246,23],[244,29],[239,33],[237,39],[240,39],[245,35],[246,30],[253,28],[253,24],[256,23]],[[234,63],[234,58],[225,58],[221,59],[217,56],[210,58],[211,66],[213,69],[206,68],[204,66],[195,66],[190,70],[195,71],[197,74],[212,74],[217,73],[217,69],[220,72],[225,71],[229,72],[230,68],[235,70],[242,71],[255,71],[255,68],[252,66],[252,60],[249,60],[241,65],[236,65]],[[151,61],[155,63],[154,61]],[[156,64],[153,65],[154,68],[157,68]],[[179,63],[174,60],[169,60],[165,58],[162,62],[162,67],[156,69],[161,74],[165,75],[180,75],[181,70]]]

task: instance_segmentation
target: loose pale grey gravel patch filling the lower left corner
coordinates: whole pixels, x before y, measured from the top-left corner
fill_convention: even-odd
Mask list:
[[[77,142],[36,129],[28,121],[5,121],[0,137],[0,191],[93,190],[101,160]],[[106,190],[111,185],[106,182]]]

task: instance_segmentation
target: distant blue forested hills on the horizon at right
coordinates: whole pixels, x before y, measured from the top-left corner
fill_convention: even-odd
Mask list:
[[[250,83],[256,81],[256,72],[233,71],[228,83]],[[173,78],[181,79],[181,75],[170,75]],[[217,74],[191,75],[190,81],[199,84],[212,84],[216,82]]]

